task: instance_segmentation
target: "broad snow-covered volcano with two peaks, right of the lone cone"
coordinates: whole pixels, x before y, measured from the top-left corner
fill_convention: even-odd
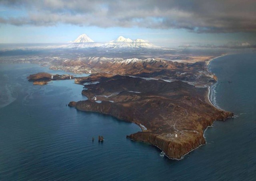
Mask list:
[[[130,38],[125,38],[123,36],[119,36],[117,39],[106,43],[104,47],[107,48],[154,48],[156,46],[148,43],[144,39],[135,39],[132,41]]]

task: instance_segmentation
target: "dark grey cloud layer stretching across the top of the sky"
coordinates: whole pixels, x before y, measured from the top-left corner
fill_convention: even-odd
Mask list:
[[[197,33],[256,32],[255,0],[0,0],[21,17],[6,14],[16,26],[142,27],[186,29]]]

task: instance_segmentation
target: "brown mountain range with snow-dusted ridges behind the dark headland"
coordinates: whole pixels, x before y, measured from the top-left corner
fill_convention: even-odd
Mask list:
[[[52,62],[54,64],[54,62]],[[165,76],[176,74],[176,71],[182,71],[185,64],[166,61],[161,59],[122,59],[107,57],[79,57],[77,59],[66,59],[58,65],[64,67],[82,67],[86,69],[101,70],[102,72],[120,74],[120,75],[149,75]],[[176,76],[177,77],[177,76]]]

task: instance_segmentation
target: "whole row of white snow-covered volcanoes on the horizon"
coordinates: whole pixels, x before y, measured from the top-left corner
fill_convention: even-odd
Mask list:
[[[70,48],[87,48],[87,47],[102,47],[102,48],[159,48],[144,39],[135,39],[125,38],[119,36],[117,39],[114,39],[108,43],[95,43],[90,37],[86,34],[79,35],[72,44],[68,45]]]

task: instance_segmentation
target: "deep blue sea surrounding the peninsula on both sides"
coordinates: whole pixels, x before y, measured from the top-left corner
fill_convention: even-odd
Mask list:
[[[73,80],[26,79],[66,72],[0,64],[0,180],[256,180],[256,54],[220,57],[209,69],[218,77],[212,101],[236,116],[214,122],[207,144],[177,161],[126,139],[136,124],[66,106],[86,99]],[[104,142],[92,142],[98,135]]]

